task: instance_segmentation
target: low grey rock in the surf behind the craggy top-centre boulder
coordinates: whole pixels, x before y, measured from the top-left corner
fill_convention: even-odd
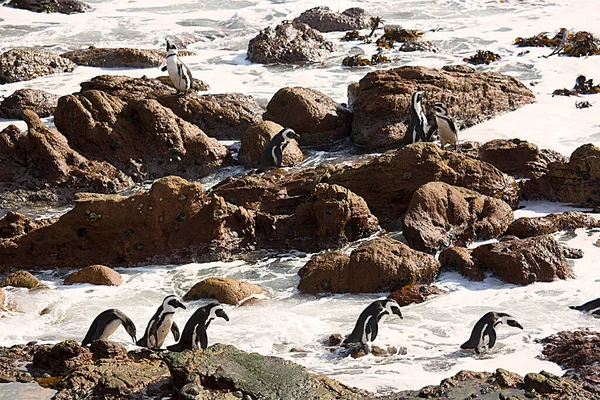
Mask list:
[[[313,7],[294,18],[320,32],[351,31],[370,26],[371,14],[360,7],[349,8],[343,12],[332,11],[329,7]]]

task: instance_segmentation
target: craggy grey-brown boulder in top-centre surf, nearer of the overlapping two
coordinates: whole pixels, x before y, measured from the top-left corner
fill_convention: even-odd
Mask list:
[[[260,64],[300,64],[322,61],[333,43],[306,24],[284,21],[267,27],[248,43],[248,60]]]

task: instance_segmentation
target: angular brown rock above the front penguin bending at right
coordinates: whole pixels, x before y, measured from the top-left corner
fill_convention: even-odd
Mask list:
[[[560,244],[549,235],[527,239],[508,236],[477,247],[473,256],[508,283],[528,285],[572,277]]]

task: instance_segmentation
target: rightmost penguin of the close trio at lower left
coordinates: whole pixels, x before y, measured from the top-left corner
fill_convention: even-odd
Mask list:
[[[167,349],[170,351],[205,349],[208,347],[206,329],[208,329],[211,321],[217,317],[229,321],[229,317],[221,304],[211,303],[200,307],[186,322],[179,342],[172,346],[167,346]]]

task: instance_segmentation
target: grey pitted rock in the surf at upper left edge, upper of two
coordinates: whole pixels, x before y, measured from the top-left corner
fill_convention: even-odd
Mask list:
[[[12,49],[0,54],[0,84],[29,81],[41,76],[71,72],[71,60],[42,50]]]

